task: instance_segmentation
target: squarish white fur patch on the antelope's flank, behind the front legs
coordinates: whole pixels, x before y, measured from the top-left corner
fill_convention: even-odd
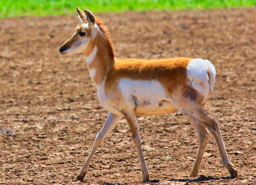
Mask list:
[[[155,80],[121,79],[118,87],[129,107],[157,107],[159,102],[167,99],[164,87]]]

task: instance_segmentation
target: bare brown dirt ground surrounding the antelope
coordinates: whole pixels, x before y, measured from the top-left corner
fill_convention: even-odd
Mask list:
[[[80,7],[83,8],[83,7]],[[85,8],[85,7],[84,7]],[[189,178],[198,137],[179,112],[138,118],[150,182],[121,119],[95,154],[84,184],[256,184],[256,9],[98,14],[117,58],[209,59],[219,121],[239,178],[222,166],[213,135],[200,176]],[[83,184],[74,179],[107,112],[85,56],[59,54],[77,15],[0,19],[0,184]]]

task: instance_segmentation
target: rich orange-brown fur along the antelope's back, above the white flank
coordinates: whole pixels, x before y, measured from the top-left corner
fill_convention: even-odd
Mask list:
[[[166,91],[173,91],[179,84],[186,84],[186,66],[190,58],[162,60],[124,59],[115,62],[106,76],[105,90],[117,85],[121,78],[156,80]]]

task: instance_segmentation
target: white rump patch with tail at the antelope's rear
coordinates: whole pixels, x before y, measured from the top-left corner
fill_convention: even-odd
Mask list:
[[[215,67],[209,60],[193,59],[187,65],[187,78],[203,97],[209,95],[209,90],[213,93],[215,73]]]

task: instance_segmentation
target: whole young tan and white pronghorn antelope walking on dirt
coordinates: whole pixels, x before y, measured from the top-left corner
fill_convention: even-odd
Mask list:
[[[175,58],[163,60],[116,60],[109,32],[89,11],[76,9],[82,25],[63,44],[62,54],[84,52],[90,77],[98,89],[101,105],[108,110],[102,130],[75,180],[83,181],[89,164],[105,136],[124,117],[128,122],[142,167],[143,181],[149,181],[149,171],[141,148],[136,116],[169,113],[178,109],[191,118],[199,137],[199,150],[190,173],[198,175],[210,131],[217,142],[223,165],[233,177],[237,171],[230,162],[219,124],[203,107],[213,94],[215,67],[208,60]]]

